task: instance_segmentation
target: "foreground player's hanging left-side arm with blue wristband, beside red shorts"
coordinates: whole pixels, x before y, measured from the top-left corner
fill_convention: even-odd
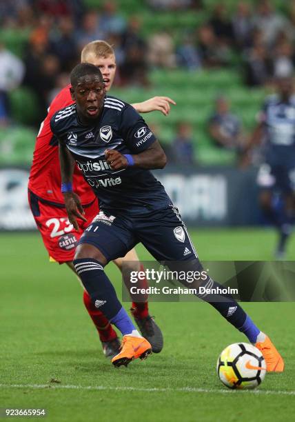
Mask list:
[[[77,218],[87,222],[83,216],[84,210],[77,194],[72,191],[72,177],[74,173],[74,159],[68,148],[59,141],[59,164],[61,166],[61,191],[65,201],[70,223],[79,232]]]

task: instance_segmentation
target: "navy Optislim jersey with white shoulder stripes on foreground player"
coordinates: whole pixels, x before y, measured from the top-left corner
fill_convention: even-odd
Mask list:
[[[85,180],[99,197],[102,210],[145,213],[171,204],[163,185],[149,170],[128,167],[112,170],[105,150],[139,154],[156,138],[143,118],[127,104],[106,96],[99,119],[83,125],[76,105],[55,113],[50,126],[59,142],[66,145]]]

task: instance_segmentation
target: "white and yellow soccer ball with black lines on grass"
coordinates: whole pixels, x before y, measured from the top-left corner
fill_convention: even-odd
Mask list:
[[[232,390],[258,387],[266,373],[266,363],[260,350],[249,343],[230,344],[217,361],[221,382]]]

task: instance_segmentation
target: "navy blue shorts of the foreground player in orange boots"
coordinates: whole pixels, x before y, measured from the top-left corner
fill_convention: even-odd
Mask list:
[[[140,242],[157,261],[197,258],[187,228],[173,206],[132,216],[101,211],[79,240],[79,244],[94,245],[108,261],[124,257]]]

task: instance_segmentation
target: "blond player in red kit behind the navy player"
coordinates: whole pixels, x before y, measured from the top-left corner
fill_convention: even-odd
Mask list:
[[[105,90],[110,90],[116,72],[116,59],[114,50],[105,41],[92,41],[81,52],[81,61],[97,66],[103,74]],[[99,213],[99,204],[88,183],[85,183],[80,170],[74,171],[74,190],[81,198],[85,209],[85,217],[88,223],[80,221],[81,232],[74,229],[68,221],[64,207],[63,195],[61,194],[61,174],[59,168],[59,148],[57,138],[50,129],[50,119],[57,110],[72,104],[70,85],[66,86],[52,100],[48,115],[41,123],[34,150],[32,168],[28,184],[29,203],[32,214],[41,233],[45,248],[48,250],[50,261],[60,264],[66,263],[73,271],[72,259],[77,243],[83,230]],[[138,112],[151,112],[159,110],[167,116],[170,112],[170,103],[174,103],[168,97],[153,97],[142,103],[133,104]],[[116,105],[113,105],[116,108]],[[89,137],[91,137],[91,133]],[[74,141],[75,134],[72,134]],[[125,265],[133,265],[132,270],[139,270],[141,264],[135,250],[126,255]],[[116,265],[122,270],[123,259],[116,259]],[[132,264],[131,264],[132,263]],[[142,281],[145,287],[145,281]],[[83,301],[88,310],[96,330],[99,333],[105,356],[112,357],[120,347],[120,341],[112,325],[103,313],[96,309],[90,296],[84,290]],[[160,352],[163,348],[163,336],[158,325],[148,312],[148,298],[145,303],[132,302],[132,314],[139,325],[141,333],[152,344],[153,352]]]

